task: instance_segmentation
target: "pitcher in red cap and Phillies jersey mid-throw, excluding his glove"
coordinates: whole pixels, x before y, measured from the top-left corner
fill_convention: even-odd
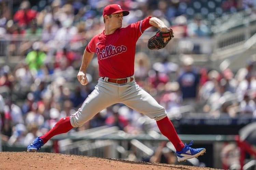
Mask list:
[[[28,146],[28,152],[37,152],[53,136],[66,133],[73,127],[82,126],[101,110],[115,103],[123,103],[156,120],[161,133],[173,143],[179,162],[197,157],[205,152],[204,148],[191,148],[193,142],[184,145],[167,117],[165,108],[139,87],[134,80],[134,59],[136,42],[139,37],[151,26],[162,32],[169,31],[169,28],[155,17],[147,17],[122,28],[123,17],[128,14],[129,11],[123,10],[118,4],[110,4],[104,8],[105,29],[88,43],[80,71],[77,74],[77,79],[82,85],[88,84],[86,69],[96,53],[100,78],[95,90],[91,92],[75,114],[62,118],[52,130],[35,139]],[[166,40],[168,38],[164,39],[164,41]]]

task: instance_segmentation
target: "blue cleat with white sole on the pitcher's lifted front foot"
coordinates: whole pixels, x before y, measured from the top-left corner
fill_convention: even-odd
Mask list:
[[[177,152],[177,151],[175,152],[175,155],[178,158],[178,162],[182,162],[190,158],[198,157],[200,155],[203,155],[206,152],[205,148],[198,148],[198,149],[191,148],[193,143],[194,141],[192,140],[189,143],[189,145],[185,144],[185,147],[180,152]]]

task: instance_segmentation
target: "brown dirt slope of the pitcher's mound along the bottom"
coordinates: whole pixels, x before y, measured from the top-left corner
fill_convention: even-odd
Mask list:
[[[0,152],[0,169],[61,170],[214,170],[183,165],[153,164],[118,159],[45,152]]]

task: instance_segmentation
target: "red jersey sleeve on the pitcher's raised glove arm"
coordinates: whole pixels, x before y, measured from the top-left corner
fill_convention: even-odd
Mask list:
[[[139,37],[143,34],[143,32],[150,28],[152,25],[149,23],[149,20],[152,17],[147,17],[141,21],[130,24],[127,28],[130,29],[131,35],[134,35],[138,40]]]

